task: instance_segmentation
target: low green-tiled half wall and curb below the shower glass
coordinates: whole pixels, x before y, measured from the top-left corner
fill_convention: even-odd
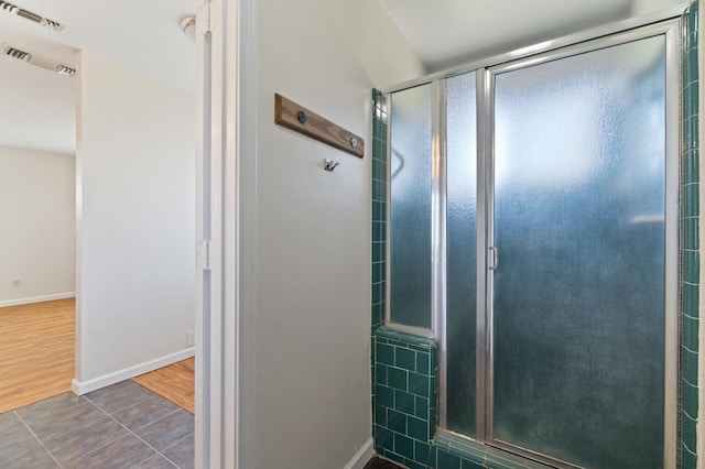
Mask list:
[[[380,327],[372,337],[375,450],[410,469],[545,468],[436,432],[437,343]]]

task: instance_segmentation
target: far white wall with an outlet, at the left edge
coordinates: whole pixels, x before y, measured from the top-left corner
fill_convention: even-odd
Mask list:
[[[0,146],[0,306],[73,296],[75,181],[73,155]]]

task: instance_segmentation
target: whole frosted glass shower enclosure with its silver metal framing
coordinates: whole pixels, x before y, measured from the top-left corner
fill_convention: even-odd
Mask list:
[[[387,325],[438,426],[555,467],[675,466],[679,22],[387,94]]]

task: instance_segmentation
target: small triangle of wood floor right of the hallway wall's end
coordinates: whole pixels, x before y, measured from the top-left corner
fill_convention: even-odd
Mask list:
[[[193,357],[132,379],[180,407],[194,413]]]

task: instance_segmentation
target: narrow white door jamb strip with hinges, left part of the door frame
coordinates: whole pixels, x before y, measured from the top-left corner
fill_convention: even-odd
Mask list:
[[[220,76],[214,64],[210,1],[198,0],[196,14],[196,402],[195,463],[221,462],[221,139],[218,110]],[[205,24],[204,24],[205,23]]]

